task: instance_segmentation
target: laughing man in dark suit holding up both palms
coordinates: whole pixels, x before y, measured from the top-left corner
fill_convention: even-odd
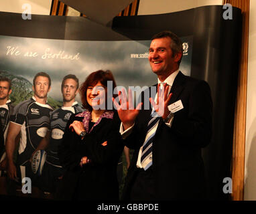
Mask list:
[[[146,98],[136,109],[125,109],[132,99],[126,101],[124,91],[121,104],[113,100],[125,144],[135,149],[123,199],[204,199],[201,148],[212,134],[212,99],[206,82],[179,71],[181,59],[182,41],[170,31],[157,33],[149,47],[149,64],[158,78],[157,94],[149,95],[153,109],[145,109]]]

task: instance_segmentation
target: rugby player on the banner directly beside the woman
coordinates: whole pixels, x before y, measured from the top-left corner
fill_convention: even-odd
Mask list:
[[[62,136],[72,114],[83,112],[84,109],[75,102],[78,94],[79,81],[73,74],[68,74],[62,80],[63,106],[54,110],[50,116],[50,130],[46,137],[40,142],[37,150],[46,149],[46,163],[40,177],[40,189],[44,193],[54,193],[64,169],[58,158],[58,147],[62,143]]]

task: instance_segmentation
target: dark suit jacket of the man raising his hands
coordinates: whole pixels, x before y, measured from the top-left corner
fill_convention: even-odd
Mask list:
[[[160,118],[153,138],[151,167],[155,199],[202,199],[205,180],[201,148],[210,142],[212,134],[210,88],[206,82],[179,72],[171,92],[170,104],[181,100],[184,108],[174,113],[171,128]],[[127,173],[123,199],[129,199],[137,156],[145,140],[150,114],[151,109],[143,110],[142,107],[133,132],[125,139],[129,148],[135,148],[135,156]]]

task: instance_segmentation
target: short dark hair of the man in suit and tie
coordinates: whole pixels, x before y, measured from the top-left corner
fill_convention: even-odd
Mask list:
[[[182,56],[183,56],[182,41],[180,40],[178,35],[176,35],[175,33],[172,33],[172,31],[162,31],[162,32],[159,32],[159,33],[153,35],[151,40],[159,39],[159,38],[164,38],[164,37],[169,37],[171,39],[172,57],[174,57],[179,52],[181,52]],[[182,56],[181,56],[178,64],[180,64],[180,62],[182,61]]]

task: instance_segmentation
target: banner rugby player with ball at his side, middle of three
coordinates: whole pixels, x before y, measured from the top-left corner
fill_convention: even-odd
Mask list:
[[[31,154],[46,136],[50,128],[50,112],[52,107],[47,104],[47,94],[51,88],[50,76],[44,72],[36,74],[33,80],[34,96],[21,102],[13,109],[7,133],[7,175],[10,179],[21,181],[24,177],[31,179],[31,185],[38,185],[38,176],[31,170]],[[17,163],[13,163],[15,138],[20,132]]]

